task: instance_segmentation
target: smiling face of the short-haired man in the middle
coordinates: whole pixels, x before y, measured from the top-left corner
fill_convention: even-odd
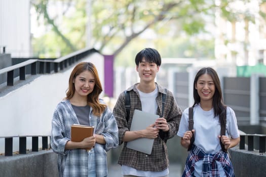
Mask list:
[[[142,58],[141,62],[136,66],[140,82],[154,82],[159,67],[156,63],[149,63],[145,58]]]

